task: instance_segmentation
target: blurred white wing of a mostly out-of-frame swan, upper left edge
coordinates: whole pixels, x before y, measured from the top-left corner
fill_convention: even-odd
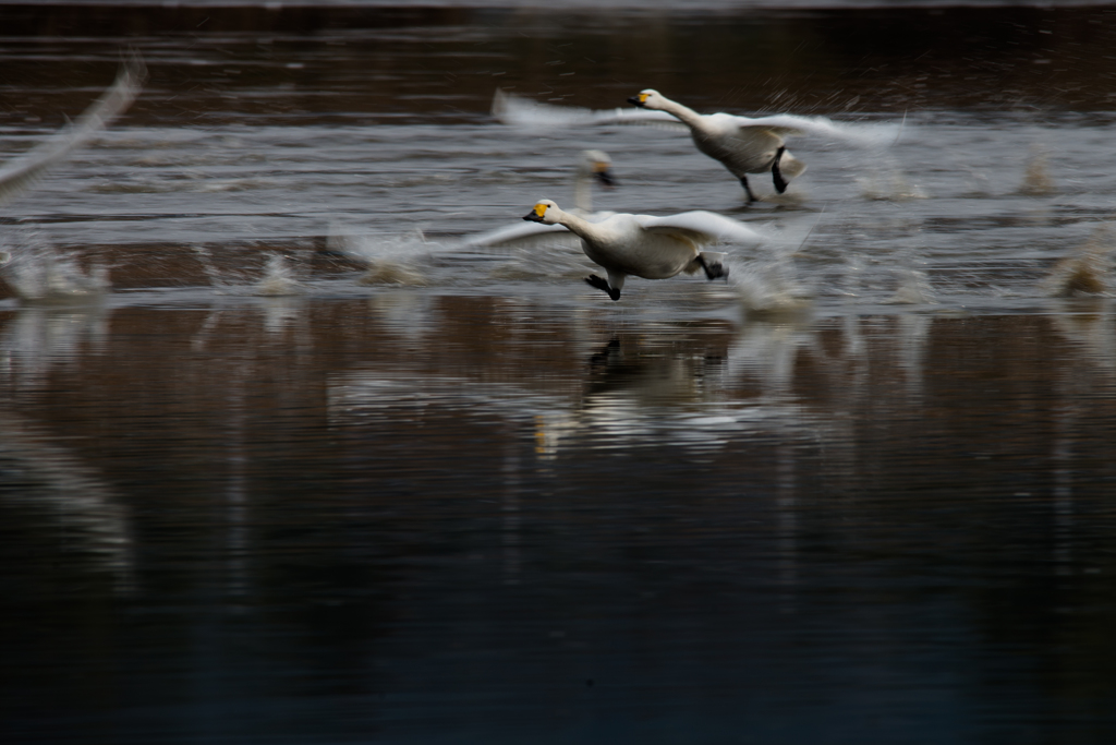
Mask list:
[[[35,184],[51,166],[69,155],[70,151],[96,137],[109,122],[132,105],[140,95],[146,75],[143,60],[138,55],[133,56],[125,63],[113,86],[77,120],[16,161],[0,166],[0,204]]]

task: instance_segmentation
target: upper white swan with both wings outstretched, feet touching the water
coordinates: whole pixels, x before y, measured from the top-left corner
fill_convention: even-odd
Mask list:
[[[628,99],[639,108],[593,111],[571,106],[552,106],[496,92],[492,115],[504,124],[526,130],[613,124],[644,124],[687,130],[698,150],[724,164],[740,180],[750,202],[756,194],[748,183],[749,173],[771,173],[780,193],[806,164],[786,151],[785,140],[791,135],[810,134],[845,142],[859,147],[891,145],[899,126],[845,124],[824,116],[748,117],[733,114],[699,114],[670,101],[653,89]]]

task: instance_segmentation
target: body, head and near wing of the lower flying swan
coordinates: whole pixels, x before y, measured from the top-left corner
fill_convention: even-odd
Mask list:
[[[716,241],[753,243],[760,236],[748,226],[712,212],[682,212],[670,217],[616,213],[589,222],[566,212],[549,199],[538,202],[525,217],[530,222],[562,226],[581,239],[581,250],[608,273],[608,279],[589,275],[585,281],[620,299],[628,275],[644,279],[668,279],[680,271],[703,269],[710,279],[728,277],[724,254],[700,251]]]

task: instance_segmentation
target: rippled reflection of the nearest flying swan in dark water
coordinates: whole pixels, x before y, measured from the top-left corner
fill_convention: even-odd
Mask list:
[[[814,346],[805,327],[757,322],[735,336],[656,329],[653,338],[614,335],[588,354],[579,384],[540,382],[533,367],[463,375],[402,362],[350,370],[329,381],[329,417],[352,424],[385,416],[422,420],[435,411],[496,414],[529,431],[542,459],[570,448],[709,451],[739,437],[815,439],[830,428],[824,411],[791,392],[793,357]],[[756,373],[771,383],[771,394],[738,390],[741,376]]]

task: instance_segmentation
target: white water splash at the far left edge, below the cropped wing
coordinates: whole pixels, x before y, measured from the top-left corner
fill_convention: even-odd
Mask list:
[[[76,254],[36,236],[19,237],[0,258],[0,276],[23,303],[88,303],[112,286],[107,267],[93,264],[83,269]]]

